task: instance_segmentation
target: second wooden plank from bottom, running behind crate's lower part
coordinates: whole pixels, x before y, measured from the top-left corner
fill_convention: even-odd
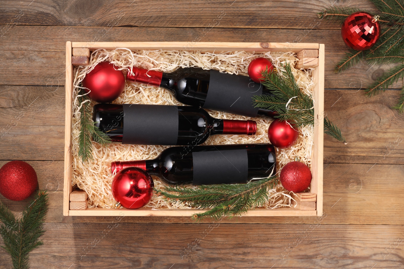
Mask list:
[[[3,165],[4,162],[0,162]],[[37,171],[40,188],[47,188],[49,212],[47,222],[111,222],[114,217],[63,217],[63,162],[28,161]],[[388,175],[388,179],[385,176]],[[402,165],[361,165],[327,164],[324,166],[324,209],[326,224],[402,224],[404,205],[400,193],[404,192]],[[59,186],[59,188],[57,187]],[[380,192],[394,190],[397,195],[386,196]],[[56,191],[57,190],[57,191]],[[56,191],[56,192],[55,192]],[[15,215],[23,210],[27,200],[13,202],[0,196],[0,200],[10,206]],[[307,223],[312,224],[316,217],[238,217],[223,220],[223,223]],[[146,223],[194,223],[191,216],[183,217],[130,217],[124,222]],[[207,219],[205,222],[212,222]]]

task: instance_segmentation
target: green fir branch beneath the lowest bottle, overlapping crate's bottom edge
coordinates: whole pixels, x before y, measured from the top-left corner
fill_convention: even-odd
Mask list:
[[[278,180],[273,176],[246,184],[201,185],[196,188],[164,186],[162,190],[155,191],[166,200],[177,200],[196,209],[209,209],[194,215],[196,220],[205,217],[231,218],[263,206],[268,200],[269,190],[276,186]]]

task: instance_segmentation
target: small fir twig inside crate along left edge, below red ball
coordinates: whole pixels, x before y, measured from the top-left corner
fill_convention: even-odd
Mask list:
[[[92,117],[92,108],[90,105],[90,99],[88,99],[86,93],[81,90],[78,96],[78,101],[81,104],[80,107],[80,133],[78,137],[79,151],[78,155],[81,157],[82,162],[85,163],[88,160],[93,160],[93,144],[91,139],[95,142],[105,146],[111,143],[111,138],[103,133],[99,127],[95,126],[95,122]]]

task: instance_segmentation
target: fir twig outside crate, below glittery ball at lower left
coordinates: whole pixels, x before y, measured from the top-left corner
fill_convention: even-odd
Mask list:
[[[25,207],[22,217],[17,221],[2,202],[0,202],[0,234],[4,248],[10,254],[14,269],[28,269],[28,256],[34,248],[43,243],[39,237],[44,234],[43,223],[48,211],[46,191],[38,191],[34,200]]]

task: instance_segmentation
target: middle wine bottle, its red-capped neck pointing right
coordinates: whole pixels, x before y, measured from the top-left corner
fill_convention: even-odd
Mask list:
[[[196,146],[215,134],[257,131],[255,121],[215,119],[195,106],[96,104],[93,120],[113,142],[122,144]]]

